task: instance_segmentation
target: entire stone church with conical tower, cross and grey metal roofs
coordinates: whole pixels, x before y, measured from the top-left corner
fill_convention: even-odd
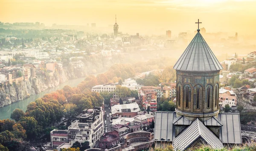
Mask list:
[[[156,146],[172,143],[176,151],[202,144],[214,149],[241,144],[239,113],[219,113],[217,58],[198,32],[173,67],[176,70],[176,109],[155,113]]]

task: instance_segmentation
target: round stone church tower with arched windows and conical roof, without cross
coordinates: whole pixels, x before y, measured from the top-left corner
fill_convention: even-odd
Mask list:
[[[219,112],[219,72],[222,68],[200,29],[173,67],[177,73],[177,116],[201,121]]]

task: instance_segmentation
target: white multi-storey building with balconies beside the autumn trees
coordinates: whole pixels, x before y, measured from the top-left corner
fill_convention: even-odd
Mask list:
[[[71,123],[68,131],[71,145],[76,141],[80,143],[88,141],[90,148],[98,147],[95,146],[96,142],[104,134],[104,114],[102,107],[85,109]]]

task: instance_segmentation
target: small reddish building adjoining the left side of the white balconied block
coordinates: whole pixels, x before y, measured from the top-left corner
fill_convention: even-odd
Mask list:
[[[58,147],[64,142],[68,143],[68,130],[57,130],[54,129],[50,132],[51,146],[53,148]]]

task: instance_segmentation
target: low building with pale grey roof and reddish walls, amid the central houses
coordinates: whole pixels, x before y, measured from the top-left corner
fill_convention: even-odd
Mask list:
[[[113,117],[135,117],[138,115],[138,111],[140,111],[140,107],[137,103],[111,106]]]

